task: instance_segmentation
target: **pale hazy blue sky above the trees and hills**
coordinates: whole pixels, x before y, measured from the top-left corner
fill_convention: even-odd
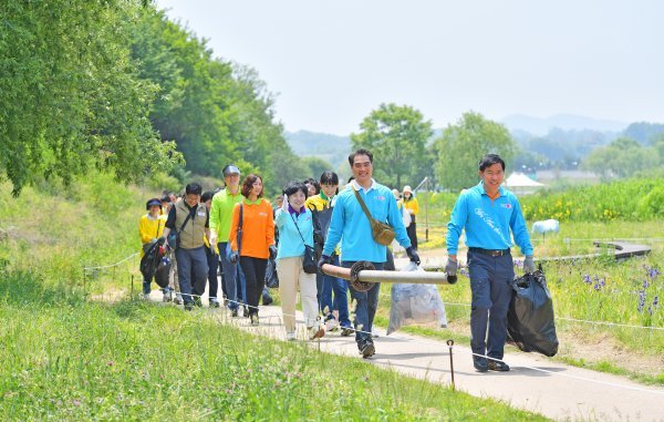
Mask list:
[[[287,130],[345,135],[382,102],[436,127],[571,113],[664,122],[664,1],[157,0],[255,68]]]

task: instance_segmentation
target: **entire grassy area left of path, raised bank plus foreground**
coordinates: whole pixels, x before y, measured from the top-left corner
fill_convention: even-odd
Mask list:
[[[141,288],[137,259],[85,284],[82,267],[137,251],[158,191],[92,174],[9,192],[0,184],[1,420],[543,420],[205,311],[92,301],[132,275]]]

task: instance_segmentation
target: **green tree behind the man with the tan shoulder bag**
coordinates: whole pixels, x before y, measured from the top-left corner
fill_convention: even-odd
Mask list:
[[[432,136],[432,122],[408,105],[381,104],[362,121],[361,131],[351,134],[353,150],[365,147],[375,156],[374,176],[401,189],[416,184],[425,145]]]

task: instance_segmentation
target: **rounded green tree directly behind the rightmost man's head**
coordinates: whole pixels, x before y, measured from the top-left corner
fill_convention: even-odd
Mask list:
[[[477,184],[477,165],[485,154],[499,154],[510,165],[516,144],[504,125],[467,112],[443,131],[433,150],[438,183],[457,192]]]

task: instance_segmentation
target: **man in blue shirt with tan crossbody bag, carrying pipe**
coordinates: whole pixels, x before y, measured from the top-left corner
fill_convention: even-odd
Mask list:
[[[396,240],[406,249],[408,258],[419,264],[419,257],[411,246],[411,239],[402,220],[402,213],[396,206],[392,191],[372,178],[373,154],[364,148],[357,150],[349,156],[349,164],[354,181],[336,196],[319,268],[323,264],[332,264],[331,256],[340,240],[342,267],[350,268],[360,260],[372,263],[378,270],[383,269],[385,265],[387,247],[374,240],[371,224],[362,210],[355,191],[366,204],[372,217],[392,226],[396,234]],[[371,330],[378,307],[381,285],[376,282],[369,291],[357,291],[352,286],[350,289],[351,295],[357,301],[354,321],[355,341],[360,353],[366,359],[375,353]]]

